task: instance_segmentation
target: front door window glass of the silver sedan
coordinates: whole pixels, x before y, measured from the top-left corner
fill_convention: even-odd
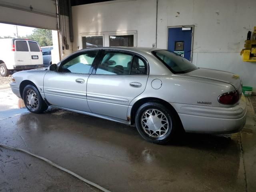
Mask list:
[[[68,60],[66,63],[64,63],[59,71],[88,74],[97,53],[98,51],[94,50],[76,56],[75,58],[72,58],[71,60]]]

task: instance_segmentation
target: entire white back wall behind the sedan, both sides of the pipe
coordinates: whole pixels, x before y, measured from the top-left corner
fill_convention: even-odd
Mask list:
[[[157,47],[167,48],[168,26],[194,25],[192,62],[239,74],[256,92],[256,62],[240,56],[248,30],[256,26],[255,10],[256,0],[158,0]],[[137,46],[156,41],[156,0],[74,6],[72,14],[74,51],[82,47],[80,34],[88,32],[137,30]]]

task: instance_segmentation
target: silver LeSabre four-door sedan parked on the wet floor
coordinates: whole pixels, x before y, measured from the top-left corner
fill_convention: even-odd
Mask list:
[[[246,121],[238,75],[198,68],[158,48],[80,50],[48,68],[13,74],[10,86],[30,112],[50,105],[136,124],[144,139],[158,144],[178,130],[238,132]]]

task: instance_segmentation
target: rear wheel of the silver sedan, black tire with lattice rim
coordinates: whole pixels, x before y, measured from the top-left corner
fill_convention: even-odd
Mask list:
[[[151,116],[148,115],[149,118],[148,118],[148,120],[146,120],[147,123],[144,123],[145,115],[147,116],[146,112],[150,113],[150,110],[155,111],[155,112],[152,112]],[[160,114],[158,112],[160,112]],[[149,142],[156,143],[156,144],[166,144],[172,140],[172,138],[176,132],[178,123],[175,120],[175,117],[176,117],[175,113],[176,112],[174,112],[172,109],[166,108],[164,105],[162,105],[158,102],[145,103],[142,106],[140,106],[140,108],[138,108],[138,110],[136,112],[136,117],[135,117],[136,128],[137,128],[138,132],[140,133],[140,135],[142,136],[142,138],[144,138],[145,140],[147,140]],[[144,120],[142,120],[142,115],[143,115]],[[150,118],[151,118],[151,120],[154,118],[156,120],[155,121],[156,124],[154,124],[154,120],[151,121]],[[159,122],[161,123],[161,125],[159,124]],[[168,122],[168,124],[166,124],[167,122]],[[150,124],[151,124],[151,127],[160,128],[159,129],[160,131],[150,130]],[[157,124],[158,124],[158,126],[157,126]],[[166,125],[162,126],[163,124],[166,124]],[[152,126],[152,125],[154,125],[154,126]],[[143,126],[144,126],[144,128],[143,128]],[[167,127],[168,127],[168,129],[167,129]],[[157,135],[157,134],[159,134],[159,135]]]

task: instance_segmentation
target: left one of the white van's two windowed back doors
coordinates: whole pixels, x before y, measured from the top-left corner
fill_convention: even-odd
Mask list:
[[[30,65],[30,53],[26,40],[15,40],[16,65]]]

